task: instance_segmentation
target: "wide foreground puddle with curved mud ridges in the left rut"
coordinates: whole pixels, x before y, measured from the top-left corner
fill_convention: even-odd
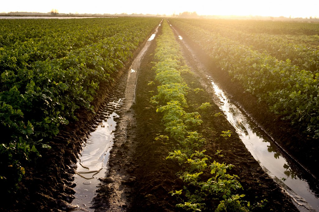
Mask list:
[[[108,103],[100,116],[94,131],[88,136],[85,146],[77,162],[77,170],[74,175],[74,188],[76,197],[73,205],[78,205],[71,211],[94,211],[90,208],[91,201],[96,195],[96,185],[100,183],[99,178],[105,177],[107,161],[113,145],[114,131],[119,115],[116,113],[123,104],[123,99],[115,99]]]

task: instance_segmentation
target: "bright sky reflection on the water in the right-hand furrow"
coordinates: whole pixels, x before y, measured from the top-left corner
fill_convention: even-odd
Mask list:
[[[303,171],[295,170],[291,167],[290,163],[278,152],[277,147],[269,142],[268,137],[258,132],[255,124],[250,123],[241,110],[228,101],[224,92],[216,84],[213,82],[211,84],[213,85],[215,94],[220,99],[220,109],[226,114],[227,120],[234,126],[253,157],[259,161],[272,178],[276,179],[275,181],[280,180],[280,184],[283,182],[293,190],[289,191],[290,189],[286,188],[287,192],[298,204],[302,204],[309,209],[307,210],[302,207],[299,208],[300,211],[319,211],[319,199],[315,197],[314,192],[309,188],[308,182],[299,177],[301,176],[300,172]],[[299,173],[299,176],[297,176],[297,173]],[[318,182],[316,182],[316,186],[318,186]],[[294,192],[297,194],[293,194]],[[300,200],[298,195],[304,198],[311,206],[307,202],[304,202],[302,198]]]

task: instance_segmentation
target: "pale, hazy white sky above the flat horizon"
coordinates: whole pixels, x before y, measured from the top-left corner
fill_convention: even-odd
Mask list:
[[[0,12],[260,15],[319,18],[319,0],[1,0]]]

